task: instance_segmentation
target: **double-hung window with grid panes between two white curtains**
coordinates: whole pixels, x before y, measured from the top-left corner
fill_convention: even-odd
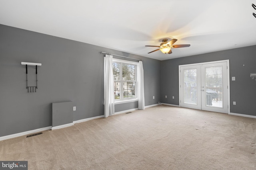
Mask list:
[[[115,100],[136,99],[137,64],[113,60]]]

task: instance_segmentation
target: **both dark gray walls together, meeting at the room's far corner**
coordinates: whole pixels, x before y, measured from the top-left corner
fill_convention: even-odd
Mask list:
[[[230,80],[230,100],[236,101],[230,111],[256,115],[256,81],[250,78],[250,73],[256,72],[256,46],[158,61],[0,25],[0,137],[51,126],[52,103],[72,101],[76,106],[73,121],[104,115],[100,51],[144,60],[145,106],[179,104],[179,65],[229,59],[230,78],[236,76],[236,81]],[[36,93],[26,90],[26,66],[20,64],[22,61],[42,63]],[[35,68],[29,68],[33,76],[30,72]],[[166,95],[168,98],[164,98]],[[118,104],[115,111],[137,107],[136,102]]]

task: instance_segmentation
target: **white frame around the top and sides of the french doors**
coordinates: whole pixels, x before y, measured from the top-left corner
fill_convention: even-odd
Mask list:
[[[179,107],[181,107],[181,82],[180,82],[180,67],[182,66],[193,66],[193,65],[200,65],[200,64],[214,64],[214,63],[222,63],[227,62],[227,79],[228,79],[228,114],[230,114],[230,72],[229,72],[229,60],[221,60],[221,61],[211,61],[205,63],[194,63],[194,64],[184,64],[179,65]]]

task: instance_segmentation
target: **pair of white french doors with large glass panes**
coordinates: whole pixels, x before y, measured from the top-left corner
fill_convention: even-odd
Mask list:
[[[182,65],[180,106],[228,113],[228,61]]]

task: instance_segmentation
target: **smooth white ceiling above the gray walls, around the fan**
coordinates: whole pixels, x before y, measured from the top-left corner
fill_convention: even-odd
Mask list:
[[[158,60],[256,45],[255,0],[0,0],[0,24]],[[164,38],[190,47],[148,54]],[[108,52],[108,51],[105,51]]]

